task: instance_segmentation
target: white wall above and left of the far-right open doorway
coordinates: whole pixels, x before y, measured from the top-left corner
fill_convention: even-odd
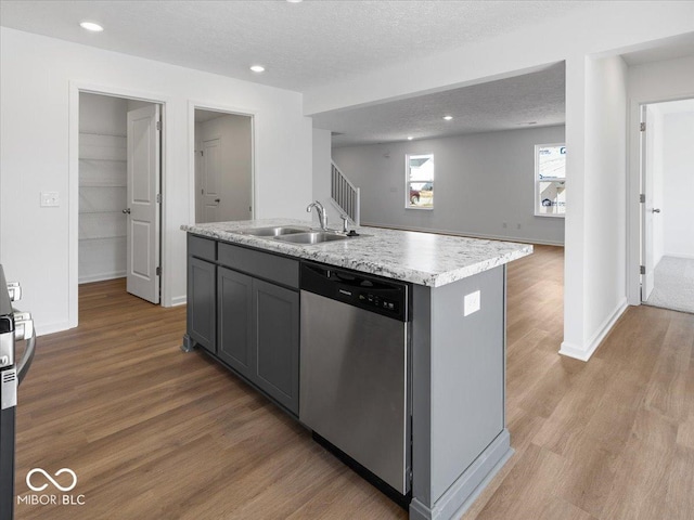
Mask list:
[[[629,304],[641,303],[641,193],[639,120],[640,105],[694,98],[694,56],[645,63],[629,67],[629,174],[628,174],[628,265]]]

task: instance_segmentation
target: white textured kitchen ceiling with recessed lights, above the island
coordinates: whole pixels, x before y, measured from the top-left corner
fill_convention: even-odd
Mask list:
[[[590,1],[1,0],[0,24],[305,91],[591,9]],[[90,34],[78,25],[98,22]],[[267,72],[248,70],[255,63]]]

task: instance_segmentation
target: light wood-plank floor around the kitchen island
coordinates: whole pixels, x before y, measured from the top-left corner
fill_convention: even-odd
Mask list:
[[[589,363],[560,356],[563,250],[536,251],[509,266],[516,453],[464,518],[694,518],[694,315],[630,308]],[[182,353],[184,328],[184,308],[120,281],[80,288],[80,326],[39,338],[21,388],[16,474],[25,495],[31,468],[72,468],[85,505],[22,504],[17,520],[407,518],[265,398]]]

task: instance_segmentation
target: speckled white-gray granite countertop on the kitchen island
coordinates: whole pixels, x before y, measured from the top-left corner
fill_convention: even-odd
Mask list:
[[[382,227],[358,227],[361,236],[314,245],[240,234],[249,227],[303,225],[294,219],[264,219],[181,225],[195,235],[313,260],[394,280],[439,287],[532,252],[532,246]]]

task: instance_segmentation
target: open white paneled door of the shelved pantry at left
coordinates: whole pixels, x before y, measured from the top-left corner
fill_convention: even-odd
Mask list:
[[[159,105],[128,112],[127,290],[159,302]]]

